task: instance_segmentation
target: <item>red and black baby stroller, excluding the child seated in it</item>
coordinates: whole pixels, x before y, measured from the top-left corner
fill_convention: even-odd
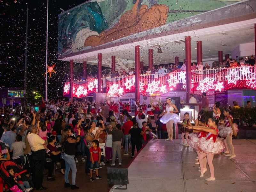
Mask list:
[[[9,172],[6,170],[7,166],[11,166],[13,171],[17,173],[15,176],[20,175],[22,181],[28,181],[30,187],[34,188],[32,181],[30,181],[29,178],[25,175],[25,172],[27,172],[27,170],[22,170],[20,165],[16,164],[13,161],[1,161],[0,164],[0,176],[4,180],[4,186],[5,184],[7,184],[8,188],[12,188],[14,185],[17,185],[17,183],[10,177]],[[18,188],[20,188],[19,185],[17,186]]]

